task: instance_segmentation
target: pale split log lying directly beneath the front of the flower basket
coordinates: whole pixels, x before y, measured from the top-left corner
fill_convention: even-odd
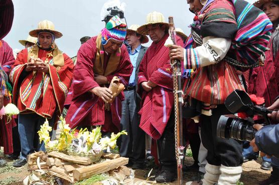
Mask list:
[[[52,152],[48,153],[48,155],[52,156],[52,157],[60,158],[60,159],[66,160],[66,161],[78,163],[78,164],[85,164],[85,165],[91,164],[91,159],[86,158],[86,157],[71,156],[71,155],[66,155],[64,153],[60,153],[60,152],[56,152],[56,151],[52,151]]]

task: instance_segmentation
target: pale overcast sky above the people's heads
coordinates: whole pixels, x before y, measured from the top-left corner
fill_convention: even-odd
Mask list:
[[[23,49],[18,42],[25,40],[29,31],[36,29],[42,20],[52,21],[55,29],[63,34],[56,40],[60,50],[73,57],[83,36],[96,36],[104,27],[100,12],[106,0],[14,0],[15,17],[11,32],[4,38],[13,49]],[[194,15],[189,12],[186,0],[120,0],[126,4],[125,17],[128,26],[143,25],[148,13],[157,11],[173,16],[175,26],[189,35],[188,26]],[[253,2],[249,0],[248,2]]]

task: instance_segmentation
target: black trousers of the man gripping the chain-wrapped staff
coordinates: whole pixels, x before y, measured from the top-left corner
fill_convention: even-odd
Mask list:
[[[218,120],[225,114],[231,113],[221,104],[212,110],[211,116],[201,115],[201,138],[208,150],[206,159],[212,165],[240,166],[243,162],[242,143],[216,135]]]

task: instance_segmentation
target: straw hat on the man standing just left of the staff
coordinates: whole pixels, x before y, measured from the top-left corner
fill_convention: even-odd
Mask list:
[[[137,33],[148,35],[147,26],[148,25],[154,25],[154,24],[162,24],[166,25],[167,28],[169,28],[169,24],[165,22],[165,17],[160,12],[152,12],[147,15],[146,24],[143,26],[140,26],[137,29]]]

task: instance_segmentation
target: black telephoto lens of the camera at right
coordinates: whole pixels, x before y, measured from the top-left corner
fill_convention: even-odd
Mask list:
[[[217,125],[217,136],[234,138],[240,141],[251,141],[257,132],[253,122],[235,115],[222,115]]]

